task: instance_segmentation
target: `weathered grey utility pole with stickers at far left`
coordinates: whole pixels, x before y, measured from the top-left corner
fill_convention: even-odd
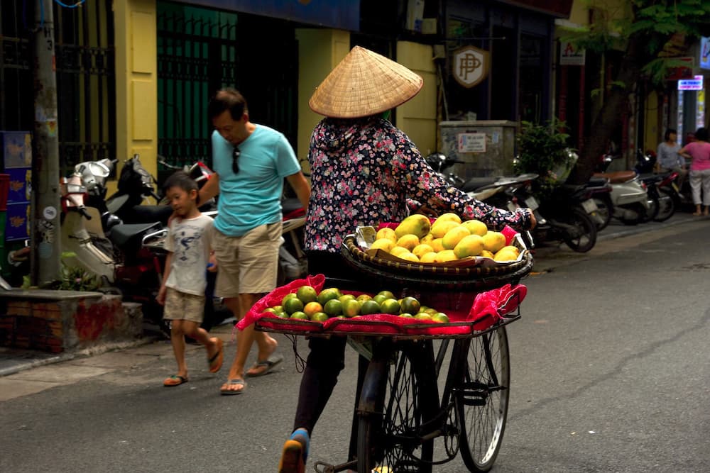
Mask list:
[[[32,284],[58,279],[60,269],[59,140],[52,0],[35,3],[35,130],[32,158]]]

